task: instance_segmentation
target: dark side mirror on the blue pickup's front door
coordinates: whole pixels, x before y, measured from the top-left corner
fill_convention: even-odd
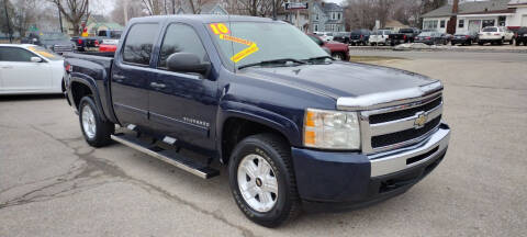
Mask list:
[[[173,53],[167,58],[167,68],[176,72],[194,72],[206,77],[211,63],[201,63],[200,57],[192,53]]]

